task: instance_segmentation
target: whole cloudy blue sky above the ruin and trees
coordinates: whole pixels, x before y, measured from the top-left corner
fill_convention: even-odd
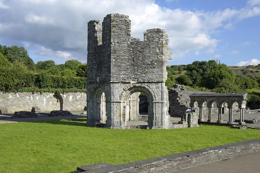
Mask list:
[[[0,44],[24,46],[34,62],[86,62],[87,22],[120,13],[131,34],[166,29],[172,64],[218,59],[260,63],[260,0],[0,0]]]

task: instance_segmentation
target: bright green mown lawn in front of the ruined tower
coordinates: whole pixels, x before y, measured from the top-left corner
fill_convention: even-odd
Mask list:
[[[0,124],[0,172],[69,173],[77,166],[131,161],[260,138],[260,130],[202,125],[172,130],[112,130],[55,120]]]

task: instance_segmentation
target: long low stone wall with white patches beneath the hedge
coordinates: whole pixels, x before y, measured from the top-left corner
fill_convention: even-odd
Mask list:
[[[0,113],[18,111],[50,112],[53,110],[83,111],[87,94],[76,93],[5,93],[0,92]]]

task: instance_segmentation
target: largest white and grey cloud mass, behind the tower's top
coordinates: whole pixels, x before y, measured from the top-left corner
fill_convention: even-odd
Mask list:
[[[103,20],[106,14],[120,13],[131,19],[131,36],[143,39],[143,31],[166,29],[173,58],[195,54],[213,54],[220,40],[212,34],[244,18],[259,15],[257,0],[248,1],[242,9],[213,12],[169,9],[153,0],[0,0],[9,7],[0,15],[0,35],[14,44],[22,41],[53,51],[52,55],[86,60],[87,22]],[[19,5],[18,5],[19,4]],[[3,6],[3,5],[2,5]],[[101,10],[102,9],[102,10]],[[3,24],[12,27],[5,28]],[[11,25],[12,24],[12,25]],[[45,50],[46,52],[48,52]],[[49,52],[51,52],[49,51]],[[69,54],[58,54],[58,51]],[[37,51],[39,54],[40,52]],[[44,52],[44,51],[43,51]],[[44,55],[41,53],[41,55]],[[32,57],[33,58],[33,57]]]

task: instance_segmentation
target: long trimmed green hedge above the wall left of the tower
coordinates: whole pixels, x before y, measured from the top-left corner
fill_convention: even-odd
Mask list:
[[[39,89],[45,89],[46,92],[53,89],[85,91],[86,88],[86,77],[54,76],[47,73],[34,74],[19,69],[0,68],[0,91],[4,92],[36,92],[36,90],[41,92]]]

